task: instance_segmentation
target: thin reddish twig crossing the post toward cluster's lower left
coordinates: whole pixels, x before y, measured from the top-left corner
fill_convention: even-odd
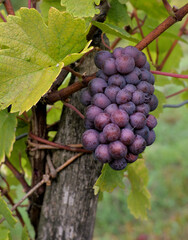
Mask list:
[[[50,145],[50,146],[53,146],[53,147],[57,147],[59,149],[64,149],[64,150],[68,150],[68,151],[72,151],[72,152],[87,152],[87,153],[90,152],[90,151],[82,149],[82,148],[75,148],[75,147],[72,148],[72,147],[69,147],[67,145],[62,145],[62,144],[59,144],[59,143],[50,142],[46,139],[43,139],[43,138],[40,138],[40,137],[34,135],[31,132],[29,133],[29,136],[32,139],[37,140],[38,142],[41,142],[41,143],[44,143],[44,144],[47,144],[47,145]]]

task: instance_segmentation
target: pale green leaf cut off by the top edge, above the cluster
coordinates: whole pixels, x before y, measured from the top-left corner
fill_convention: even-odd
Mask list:
[[[96,9],[96,5],[100,4],[100,0],[61,0],[61,5],[66,7],[66,11],[73,14],[75,17],[93,17],[95,14],[99,14],[99,9]]]

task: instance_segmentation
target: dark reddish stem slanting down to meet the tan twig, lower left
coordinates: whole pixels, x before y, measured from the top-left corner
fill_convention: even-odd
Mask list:
[[[18,179],[18,181],[21,183],[21,185],[24,188],[25,192],[28,192],[30,190],[30,186],[26,182],[24,175],[21,174],[13,165],[12,163],[8,160],[8,158],[5,158],[4,164],[11,170],[11,172],[14,174],[14,176]]]

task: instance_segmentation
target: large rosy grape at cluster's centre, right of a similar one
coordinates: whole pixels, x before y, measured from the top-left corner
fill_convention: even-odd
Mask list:
[[[124,110],[118,109],[111,114],[111,122],[119,127],[125,127],[129,122],[129,115]]]

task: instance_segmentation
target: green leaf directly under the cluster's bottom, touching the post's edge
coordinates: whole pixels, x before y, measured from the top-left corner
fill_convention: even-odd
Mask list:
[[[105,164],[101,171],[101,175],[93,187],[94,194],[97,195],[99,191],[112,192],[116,187],[124,188],[124,172],[125,170],[115,171],[108,164]]]

